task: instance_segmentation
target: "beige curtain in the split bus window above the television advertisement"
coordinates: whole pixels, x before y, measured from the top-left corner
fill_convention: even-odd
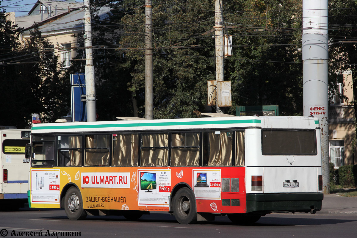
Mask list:
[[[168,134],[143,134],[141,149],[141,166],[167,166],[169,162]]]

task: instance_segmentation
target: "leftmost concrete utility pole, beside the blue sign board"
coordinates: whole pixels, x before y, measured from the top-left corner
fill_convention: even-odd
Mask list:
[[[89,0],[84,0],[84,38],[86,48],[86,108],[87,121],[96,121],[96,101],[95,101],[95,75],[93,65],[92,50],[92,18],[90,15]]]

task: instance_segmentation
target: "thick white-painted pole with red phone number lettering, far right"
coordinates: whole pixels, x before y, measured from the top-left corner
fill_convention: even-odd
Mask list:
[[[302,1],[302,67],[304,116],[321,127],[323,193],[330,193],[328,146],[328,11],[327,0]]]

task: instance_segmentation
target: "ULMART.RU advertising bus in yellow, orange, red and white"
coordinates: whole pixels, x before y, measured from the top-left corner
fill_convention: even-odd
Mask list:
[[[67,122],[32,126],[29,205],[181,224],[225,216],[253,223],[322,206],[320,124],[247,116]]]

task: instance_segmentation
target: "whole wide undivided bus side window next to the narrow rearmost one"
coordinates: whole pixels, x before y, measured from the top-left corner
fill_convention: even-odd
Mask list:
[[[232,165],[232,131],[203,132],[203,165]]]

